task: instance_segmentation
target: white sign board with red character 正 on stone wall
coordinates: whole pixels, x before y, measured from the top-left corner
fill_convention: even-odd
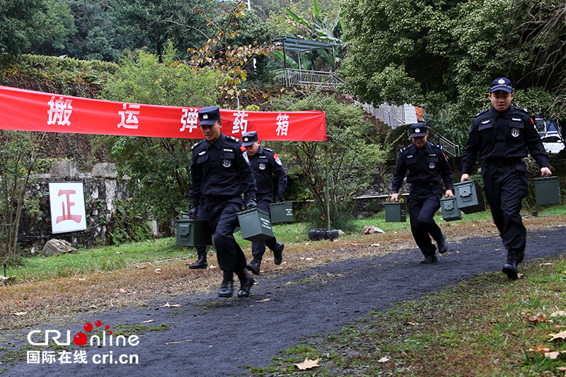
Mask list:
[[[86,229],[83,182],[50,182],[49,199],[52,233]]]

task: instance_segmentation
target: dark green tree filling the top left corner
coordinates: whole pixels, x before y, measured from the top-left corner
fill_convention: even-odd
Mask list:
[[[0,0],[0,53],[17,55],[30,47],[42,5],[42,0]]]

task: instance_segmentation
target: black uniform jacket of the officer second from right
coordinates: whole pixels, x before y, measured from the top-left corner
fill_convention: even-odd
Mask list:
[[[444,182],[446,190],[454,188],[454,175],[446,159],[442,146],[427,141],[424,149],[419,150],[414,143],[401,149],[395,166],[395,174],[391,180],[391,190],[399,192],[403,178],[407,173],[407,182]]]

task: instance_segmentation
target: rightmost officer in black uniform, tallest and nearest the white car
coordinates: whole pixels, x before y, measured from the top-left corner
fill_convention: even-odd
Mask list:
[[[526,229],[521,219],[521,202],[527,195],[523,158],[531,153],[541,176],[551,175],[548,154],[529,112],[511,106],[513,85],[499,77],[490,85],[490,109],[475,115],[462,155],[461,182],[470,180],[476,156],[483,160],[481,174],[485,197],[503,245],[507,262],[502,272],[516,279],[525,255]]]

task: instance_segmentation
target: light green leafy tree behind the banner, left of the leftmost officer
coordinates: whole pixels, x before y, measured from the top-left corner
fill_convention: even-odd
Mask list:
[[[214,105],[223,77],[210,69],[196,69],[175,62],[172,43],[163,63],[155,54],[140,50],[120,62],[108,80],[105,100],[165,106]],[[111,155],[122,175],[129,176],[128,188],[134,205],[161,224],[169,224],[190,204],[190,139],[112,137]]]

